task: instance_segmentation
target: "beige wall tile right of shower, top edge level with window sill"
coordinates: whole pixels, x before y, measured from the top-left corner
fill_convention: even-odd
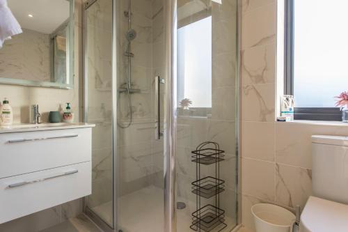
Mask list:
[[[275,123],[242,123],[242,157],[274,161]]]

